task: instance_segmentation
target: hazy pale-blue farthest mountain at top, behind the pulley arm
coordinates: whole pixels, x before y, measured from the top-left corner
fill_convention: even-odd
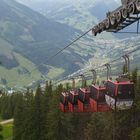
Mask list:
[[[30,8],[40,12],[46,17],[65,23],[82,31],[96,25],[106,17],[108,11],[112,11],[121,5],[121,0],[18,0]],[[133,24],[124,32],[136,31],[136,24]],[[102,36],[107,39],[126,38],[129,34],[110,34],[103,32]]]

